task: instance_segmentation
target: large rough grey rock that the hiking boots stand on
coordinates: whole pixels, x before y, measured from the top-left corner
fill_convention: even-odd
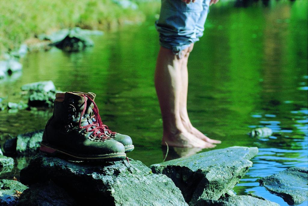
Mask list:
[[[88,205],[187,205],[171,179],[132,159],[84,163],[38,154],[20,172],[20,179],[30,187],[51,180]]]

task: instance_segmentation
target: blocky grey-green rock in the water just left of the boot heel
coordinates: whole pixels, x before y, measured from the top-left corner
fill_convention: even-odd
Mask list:
[[[37,130],[17,136],[16,153],[18,156],[34,155],[39,152],[44,130]]]

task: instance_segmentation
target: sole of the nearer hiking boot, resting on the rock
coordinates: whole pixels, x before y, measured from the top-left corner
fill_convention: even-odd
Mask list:
[[[64,157],[65,159],[72,159],[78,161],[102,161],[102,162],[115,162],[120,161],[126,158],[126,154],[124,152],[111,153],[105,155],[76,155],[71,154],[70,152],[59,150],[54,148],[53,146],[41,143],[40,151],[44,154]]]

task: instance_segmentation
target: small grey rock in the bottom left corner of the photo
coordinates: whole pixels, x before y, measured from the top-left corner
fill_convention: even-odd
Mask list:
[[[27,186],[18,181],[0,179],[0,205],[16,205],[18,193],[23,192],[27,188]]]

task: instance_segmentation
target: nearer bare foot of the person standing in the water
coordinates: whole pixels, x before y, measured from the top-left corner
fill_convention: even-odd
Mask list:
[[[179,131],[176,134],[164,134],[162,145],[175,146],[175,147],[198,147],[198,148],[213,148],[213,145],[209,142],[205,142],[200,138],[197,138],[193,134],[187,131]]]

